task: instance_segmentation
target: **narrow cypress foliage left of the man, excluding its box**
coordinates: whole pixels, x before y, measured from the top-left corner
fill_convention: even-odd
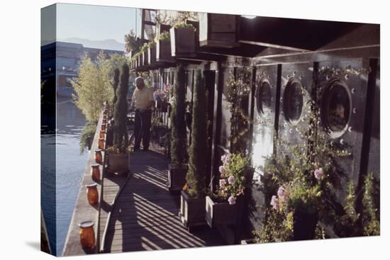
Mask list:
[[[128,78],[129,69],[127,64],[123,64],[121,69],[121,82],[116,89],[118,100],[114,108],[114,128],[113,128],[113,147],[118,152],[126,152],[128,146],[127,113],[128,113]]]

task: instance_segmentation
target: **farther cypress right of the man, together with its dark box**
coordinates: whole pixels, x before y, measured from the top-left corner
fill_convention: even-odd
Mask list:
[[[174,86],[174,103],[171,113],[171,164],[168,166],[169,191],[182,191],[186,183],[186,129],[184,124],[185,112],[185,73],[179,64],[175,73],[177,83]]]

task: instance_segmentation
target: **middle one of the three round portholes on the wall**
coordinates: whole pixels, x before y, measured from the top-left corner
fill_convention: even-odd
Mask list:
[[[290,79],[284,89],[283,113],[289,123],[296,125],[299,123],[303,108],[302,84],[297,79]]]

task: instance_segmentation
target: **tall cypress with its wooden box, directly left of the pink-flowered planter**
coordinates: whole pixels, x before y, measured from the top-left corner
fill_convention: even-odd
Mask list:
[[[185,227],[205,225],[205,175],[206,175],[206,91],[201,71],[196,72],[194,86],[194,120],[192,120],[189,170],[186,186],[181,193],[179,216]]]

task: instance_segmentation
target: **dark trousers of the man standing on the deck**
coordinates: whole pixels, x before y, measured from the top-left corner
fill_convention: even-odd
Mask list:
[[[142,119],[142,125],[141,125]],[[152,120],[152,111],[147,110],[143,113],[135,114],[134,135],[135,135],[135,149],[140,148],[141,139],[143,140],[143,149],[149,149],[150,140],[150,124]]]

